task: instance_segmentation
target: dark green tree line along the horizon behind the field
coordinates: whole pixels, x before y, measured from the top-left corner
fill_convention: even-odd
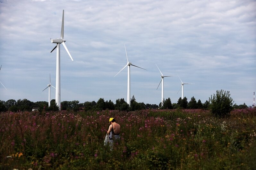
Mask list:
[[[210,99],[210,98],[209,98]],[[138,103],[134,96],[131,98],[131,105],[127,104],[124,101],[124,98],[117,99],[115,104],[111,100],[105,101],[104,98],[100,98],[97,102],[84,102],[80,103],[78,100],[73,101],[63,101],[61,102],[61,110],[67,111],[100,111],[100,110],[120,110],[120,111],[135,111],[142,109],[209,109],[210,102],[206,100],[204,103],[199,99],[196,101],[195,97],[192,97],[188,102],[188,99],[184,97],[183,99],[180,97],[177,103],[172,103],[170,97],[167,99],[163,99],[163,104],[144,104]],[[31,111],[32,108],[39,108],[39,112],[42,111],[58,111],[58,107],[55,103],[55,99],[51,100],[50,107],[48,106],[48,102],[46,101],[38,101],[31,102],[28,99],[18,99],[17,101],[14,99],[10,99],[7,101],[0,100],[0,112],[11,111],[11,112],[20,112],[20,111]],[[233,105],[235,109],[243,109],[248,108],[248,106],[244,104]]]

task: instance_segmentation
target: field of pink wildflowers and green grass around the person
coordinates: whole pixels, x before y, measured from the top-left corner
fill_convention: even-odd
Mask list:
[[[103,142],[108,120],[121,141]],[[2,112],[0,169],[256,169],[256,109]]]

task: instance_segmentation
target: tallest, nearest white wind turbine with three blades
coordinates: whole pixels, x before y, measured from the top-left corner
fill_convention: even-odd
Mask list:
[[[57,45],[53,48],[53,50],[55,50],[55,48],[57,48],[57,55],[56,55],[56,93],[55,93],[55,102],[57,104],[57,106],[60,109],[60,44],[62,43],[65,50],[67,51],[69,57],[71,58],[71,60],[73,61],[73,58],[71,57],[65,42],[66,40],[63,39],[64,37],[64,10],[63,10],[63,14],[62,14],[62,25],[61,25],[61,38],[57,38],[57,39],[51,39],[52,43],[56,43]],[[53,51],[52,50],[52,51]],[[51,51],[51,52],[52,52]]]

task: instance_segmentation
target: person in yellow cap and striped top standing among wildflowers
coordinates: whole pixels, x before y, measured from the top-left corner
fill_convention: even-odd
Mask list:
[[[109,144],[109,148],[112,151],[115,141],[120,140],[121,126],[115,122],[115,118],[109,119],[109,128],[105,137],[104,145]],[[112,133],[111,133],[112,132]]]

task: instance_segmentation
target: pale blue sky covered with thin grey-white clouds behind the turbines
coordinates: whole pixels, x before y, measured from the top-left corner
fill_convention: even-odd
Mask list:
[[[161,102],[160,72],[179,75],[184,96],[202,103],[216,90],[236,104],[253,104],[256,91],[254,0],[0,0],[0,100],[48,101],[56,84],[56,44],[64,10],[61,101],[127,100],[127,50],[131,97]],[[115,77],[114,77],[115,76]],[[178,77],[164,78],[164,98],[181,97]],[[51,99],[55,89],[51,88]]]

